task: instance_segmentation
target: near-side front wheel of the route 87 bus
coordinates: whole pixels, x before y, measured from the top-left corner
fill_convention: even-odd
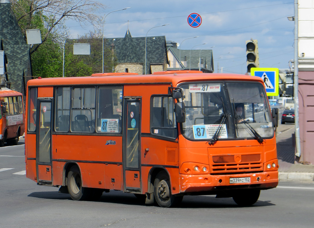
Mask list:
[[[173,207],[179,204],[183,196],[174,196],[170,191],[170,181],[168,174],[161,171],[154,181],[154,196],[160,207]]]

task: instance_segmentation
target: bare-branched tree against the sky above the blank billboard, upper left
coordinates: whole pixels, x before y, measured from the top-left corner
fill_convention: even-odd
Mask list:
[[[95,12],[106,8],[101,3],[89,0],[11,0],[11,5],[24,34],[26,29],[39,28],[42,43],[53,32],[61,34],[62,19],[65,18],[75,20],[81,25],[92,24],[96,29],[102,17]],[[40,45],[35,45],[31,53]]]

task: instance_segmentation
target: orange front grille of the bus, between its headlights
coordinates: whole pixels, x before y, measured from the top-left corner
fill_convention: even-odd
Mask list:
[[[263,171],[261,154],[214,155],[211,173],[246,173]]]

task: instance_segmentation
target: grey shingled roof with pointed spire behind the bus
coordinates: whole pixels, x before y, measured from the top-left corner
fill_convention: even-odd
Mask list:
[[[122,38],[107,38],[114,44],[118,63],[145,63],[145,37],[132,37],[129,29]],[[163,64],[168,61],[165,36],[148,36],[146,39],[146,73],[150,64]],[[143,66],[145,68],[145,66]]]

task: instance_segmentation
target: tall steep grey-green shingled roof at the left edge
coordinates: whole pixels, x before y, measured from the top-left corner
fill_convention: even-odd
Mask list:
[[[30,73],[30,46],[26,43],[21,29],[11,12],[10,3],[0,3],[0,41],[4,54],[7,55],[7,79],[11,89],[25,94],[23,76]],[[30,77],[28,79],[31,79]]]

